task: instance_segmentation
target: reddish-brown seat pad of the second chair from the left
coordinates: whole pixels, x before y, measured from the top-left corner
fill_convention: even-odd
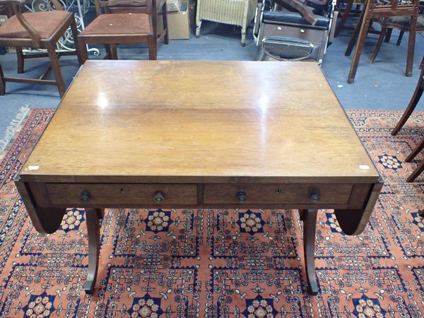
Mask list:
[[[80,37],[151,35],[151,19],[147,13],[100,14],[90,23]]]

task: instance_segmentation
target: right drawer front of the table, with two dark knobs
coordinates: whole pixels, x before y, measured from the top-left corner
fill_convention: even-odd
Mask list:
[[[206,184],[205,204],[346,204],[352,184]]]

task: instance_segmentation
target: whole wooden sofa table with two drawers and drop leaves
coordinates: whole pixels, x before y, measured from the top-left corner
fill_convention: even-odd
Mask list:
[[[358,235],[382,182],[315,63],[87,61],[16,186],[39,232],[86,208],[86,293],[104,208],[293,208],[316,295],[317,209]]]

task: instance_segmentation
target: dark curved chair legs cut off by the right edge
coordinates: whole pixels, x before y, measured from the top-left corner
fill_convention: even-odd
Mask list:
[[[413,110],[415,110],[421,96],[423,95],[423,91],[424,91],[424,78],[423,78],[424,67],[423,66],[424,66],[424,57],[423,57],[423,60],[421,61],[421,66],[420,66],[421,73],[420,73],[420,78],[418,79],[416,90],[413,92],[411,101],[409,102],[408,107],[406,107],[406,110],[404,114],[402,115],[401,119],[396,124],[396,127],[394,127],[394,129],[391,131],[391,136],[396,136],[399,130],[401,130],[401,128],[404,126],[408,118],[411,116]],[[424,148],[424,139],[420,143],[418,143],[416,148],[414,148],[413,151],[408,155],[408,157],[406,157],[405,161],[407,163],[411,163],[413,158],[415,158],[416,155],[418,155],[418,153],[420,153],[420,151],[423,150],[423,148]],[[420,165],[418,165],[416,170],[414,170],[411,173],[411,175],[406,179],[406,182],[412,182],[414,179],[416,179],[416,177],[418,177],[418,175],[420,175],[421,172],[423,172],[423,170],[424,170],[424,159],[421,160]]]

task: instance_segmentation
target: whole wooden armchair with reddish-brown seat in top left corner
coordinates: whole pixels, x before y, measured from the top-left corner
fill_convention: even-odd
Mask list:
[[[56,45],[69,27],[71,27],[74,39],[76,39],[78,32],[73,13],[63,11],[57,0],[52,1],[57,11],[22,13],[20,6],[25,4],[25,0],[0,0],[0,5],[11,6],[14,13],[6,23],[0,26],[0,46],[17,48],[18,73],[23,73],[23,59],[19,59],[19,53],[22,52],[23,47],[47,49],[47,56],[50,59],[49,68],[37,79],[6,77],[0,66],[0,95],[5,93],[6,82],[55,85],[59,90],[60,96],[64,95],[65,85],[61,76]],[[76,52],[78,52],[78,44],[75,43],[75,45]],[[43,53],[35,54],[35,57],[45,56],[46,54]],[[79,55],[78,62],[81,65]],[[45,79],[50,70],[54,73],[55,81]]]

